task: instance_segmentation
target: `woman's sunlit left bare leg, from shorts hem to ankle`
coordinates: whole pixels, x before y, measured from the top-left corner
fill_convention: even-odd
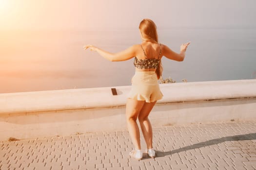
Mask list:
[[[138,114],[143,107],[145,101],[137,101],[132,99],[127,99],[126,103],[126,121],[128,132],[132,138],[132,142],[136,149],[140,150],[140,138],[139,138],[139,129],[136,122]]]

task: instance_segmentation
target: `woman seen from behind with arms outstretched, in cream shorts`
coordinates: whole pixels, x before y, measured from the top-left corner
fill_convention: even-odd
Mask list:
[[[143,152],[140,147],[137,118],[147,145],[146,153],[152,158],[156,157],[152,144],[152,127],[148,116],[156,102],[163,96],[158,85],[158,79],[162,75],[161,58],[165,56],[168,59],[183,61],[190,43],[182,44],[180,53],[159,44],[156,24],[150,19],[143,19],[139,24],[139,30],[142,43],[133,45],[124,51],[110,53],[92,45],[84,46],[84,50],[89,48],[91,51],[97,51],[109,61],[125,61],[134,58],[136,72],[132,78],[132,90],[126,103],[126,121],[135,146],[130,156],[141,160]]]

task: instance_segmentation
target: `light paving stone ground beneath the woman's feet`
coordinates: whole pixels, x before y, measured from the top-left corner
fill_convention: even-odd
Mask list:
[[[256,120],[153,127],[153,134],[157,157],[144,153],[141,161],[129,157],[126,130],[2,141],[0,170],[256,170]]]

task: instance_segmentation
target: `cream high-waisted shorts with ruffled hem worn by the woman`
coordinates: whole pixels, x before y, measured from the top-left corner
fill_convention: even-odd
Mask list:
[[[132,90],[129,99],[138,101],[155,102],[162,99],[163,94],[158,85],[155,71],[136,71],[132,78]]]

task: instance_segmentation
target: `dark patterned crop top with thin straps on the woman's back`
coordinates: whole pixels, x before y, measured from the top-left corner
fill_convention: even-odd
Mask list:
[[[134,58],[134,66],[137,67],[138,69],[150,69],[150,68],[158,68],[159,66],[159,63],[160,63],[160,55],[161,55],[161,51],[162,51],[162,48],[161,48],[161,45],[159,44],[160,46],[160,52],[159,52],[159,55],[158,55],[158,59],[156,58],[147,58],[147,55],[142,47],[142,45],[140,45],[143,52],[144,52],[144,55],[145,55],[145,58],[146,59],[138,59],[137,57]]]

